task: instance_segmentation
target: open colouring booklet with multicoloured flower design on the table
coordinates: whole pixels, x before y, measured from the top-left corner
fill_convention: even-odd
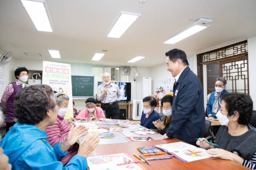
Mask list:
[[[155,147],[165,151],[166,153],[170,153],[171,155],[176,155],[176,158],[184,162],[197,161],[212,157],[211,154],[206,153],[205,149],[195,147],[184,142],[158,144],[155,145]]]

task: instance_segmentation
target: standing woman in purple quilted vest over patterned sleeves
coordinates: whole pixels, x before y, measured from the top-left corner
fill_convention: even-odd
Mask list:
[[[15,119],[13,105],[14,97],[21,88],[27,86],[25,82],[27,81],[28,73],[29,71],[26,69],[26,67],[18,67],[14,72],[15,78],[18,80],[8,84],[3,92],[1,103],[5,108],[6,133],[9,131],[9,128],[14,125],[12,122],[12,119]]]

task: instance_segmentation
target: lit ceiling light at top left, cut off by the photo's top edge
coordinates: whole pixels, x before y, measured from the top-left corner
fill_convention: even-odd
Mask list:
[[[20,0],[20,3],[38,31],[53,31],[44,0]]]

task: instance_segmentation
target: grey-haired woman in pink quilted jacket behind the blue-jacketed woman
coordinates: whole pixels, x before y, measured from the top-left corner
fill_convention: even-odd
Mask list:
[[[59,142],[63,143],[71,128],[71,126],[69,126],[66,119],[64,118],[65,114],[68,111],[67,106],[69,105],[69,96],[65,95],[64,93],[58,92],[54,94],[54,98],[59,108],[57,119],[54,125],[48,126],[48,128],[46,128],[45,130],[48,137],[47,140],[49,141],[51,146],[54,146],[56,143]],[[87,130],[84,132],[84,135],[86,134],[88,134]],[[67,156],[61,159],[62,164],[66,165],[67,162],[69,162],[70,159],[75,156],[77,152],[78,146],[76,144],[73,144],[68,150]]]

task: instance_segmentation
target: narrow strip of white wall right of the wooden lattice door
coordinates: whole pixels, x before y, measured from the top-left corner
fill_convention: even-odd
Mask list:
[[[248,66],[249,66],[249,88],[250,95],[253,99],[253,109],[256,110],[256,36],[248,38]]]

